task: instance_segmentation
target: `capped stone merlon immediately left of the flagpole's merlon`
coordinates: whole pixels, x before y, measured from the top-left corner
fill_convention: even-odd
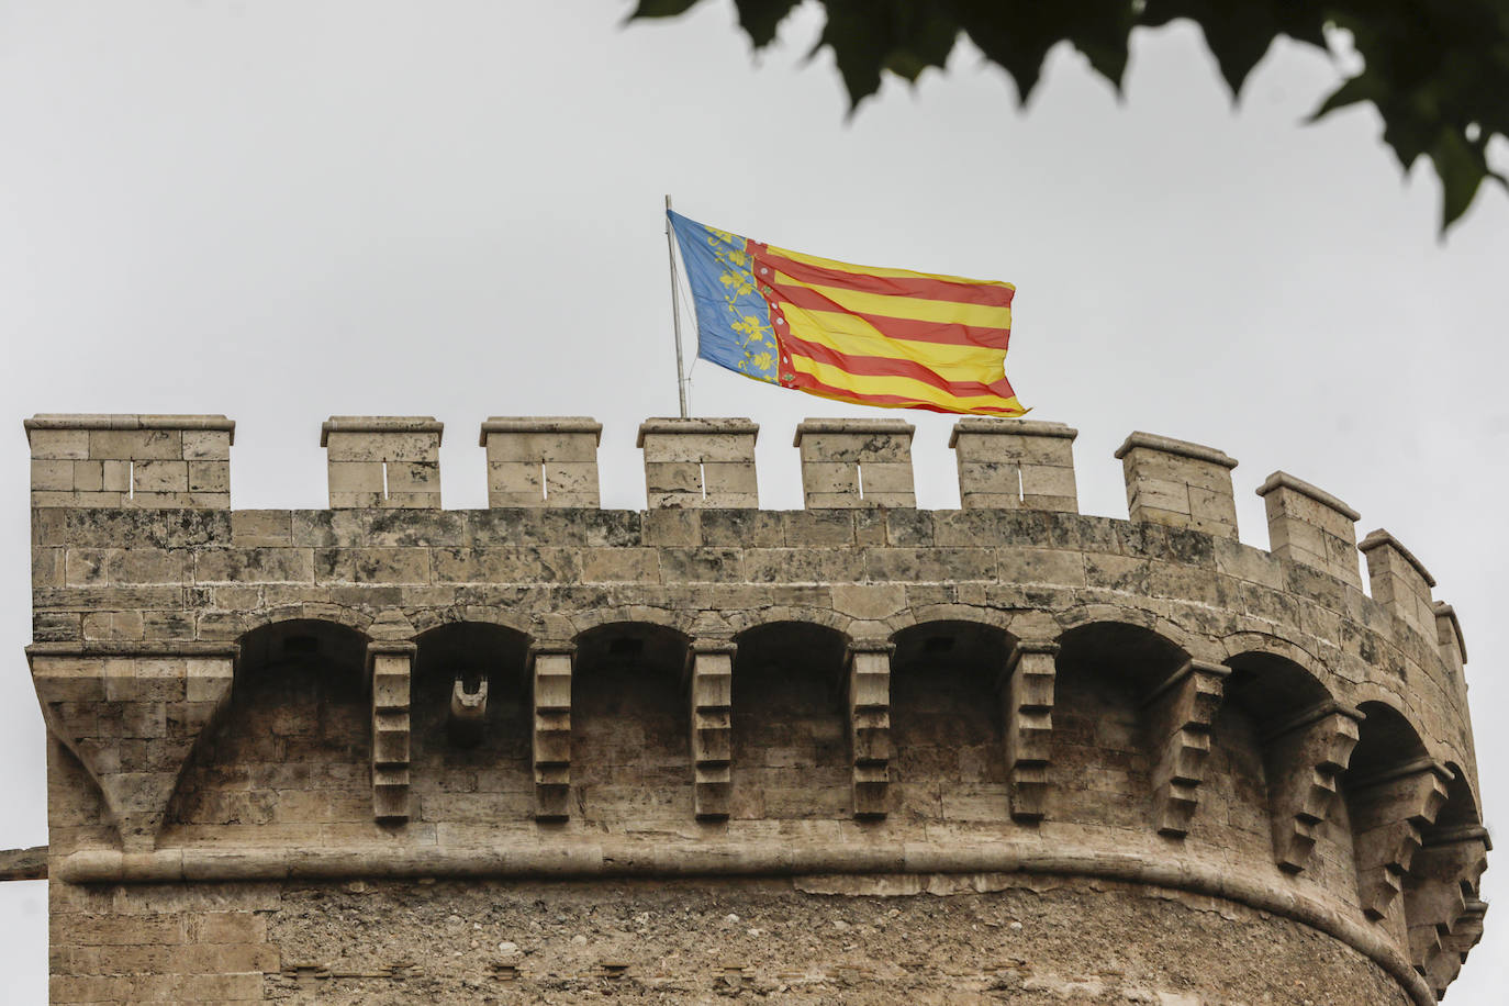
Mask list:
[[[492,416],[477,445],[487,448],[489,507],[596,507],[602,424],[587,416]]]

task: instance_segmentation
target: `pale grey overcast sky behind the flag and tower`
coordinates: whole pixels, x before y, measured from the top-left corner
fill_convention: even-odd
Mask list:
[[[816,9],[751,59],[727,2],[623,29],[629,6],[0,0],[0,846],[47,840],[23,416],[223,412],[252,508],[324,505],[332,413],[444,419],[450,507],[486,505],[484,416],[589,413],[604,501],[641,508],[635,427],[676,410],[667,192],[788,247],[1017,284],[1008,374],[1080,430],[1085,513],[1126,516],[1112,451],[1148,430],[1239,459],[1251,544],[1280,468],[1393,531],[1461,614],[1506,813],[1501,190],[1438,241],[1434,176],[1400,178],[1370,109],[1302,125],[1338,71],[1299,45],[1234,110],[1189,26],[1133,38],[1121,100],[1055,50],[1025,112],[961,47],[847,122],[831,59],[804,60]],[[792,427],[863,415],[706,363],[693,409],[762,424],[788,508]],[[951,421],[902,415],[919,502],[957,507]],[[1503,912],[1453,1003],[1501,1001]],[[42,885],[0,885],[11,1001],[45,997],[44,920]]]

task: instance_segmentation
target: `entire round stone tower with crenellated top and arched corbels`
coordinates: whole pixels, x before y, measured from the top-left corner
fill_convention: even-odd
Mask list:
[[[54,1003],[1437,1001],[1488,836],[1461,626],[1387,531],[1221,451],[1074,430],[324,424],[327,510],[232,510],[223,416],[32,445]],[[794,462],[797,459],[792,459]],[[1358,549],[1367,566],[1364,590]]]

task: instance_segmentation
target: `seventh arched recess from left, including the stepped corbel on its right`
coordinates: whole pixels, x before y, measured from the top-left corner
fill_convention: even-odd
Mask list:
[[[1234,802],[1230,820],[1248,830],[1266,824],[1281,870],[1308,870],[1316,881],[1345,888],[1351,843],[1345,813],[1338,824],[1332,811],[1360,715],[1335,701],[1304,649],[1263,633],[1240,635],[1252,649],[1225,639],[1231,677],[1213,730],[1212,778],[1233,780],[1237,793],[1255,793],[1255,802]]]

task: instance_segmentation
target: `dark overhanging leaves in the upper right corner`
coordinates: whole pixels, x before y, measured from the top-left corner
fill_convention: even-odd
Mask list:
[[[684,14],[702,0],[638,0],[632,18]],[[1441,179],[1446,231],[1492,178],[1488,143],[1509,137],[1506,0],[816,0],[827,24],[813,51],[833,50],[853,112],[881,74],[914,81],[942,68],[960,35],[1007,71],[1026,103],[1050,48],[1068,42],[1117,90],[1133,27],[1188,18],[1204,32],[1233,97],[1280,35],[1329,51],[1326,32],[1351,32],[1364,65],[1311,121],[1366,101],[1405,170],[1421,155]],[[776,38],[801,0],[733,0],[754,48]]]

